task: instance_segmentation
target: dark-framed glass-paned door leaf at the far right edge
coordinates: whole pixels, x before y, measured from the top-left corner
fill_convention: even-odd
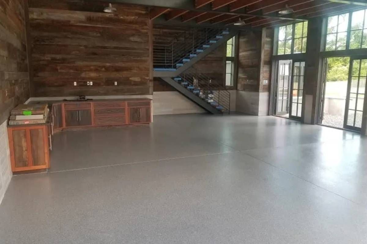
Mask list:
[[[344,128],[361,131],[366,97],[367,59],[350,59]]]

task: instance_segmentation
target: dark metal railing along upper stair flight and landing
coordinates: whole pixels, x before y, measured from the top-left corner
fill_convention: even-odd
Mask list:
[[[204,45],[222,35],[223,31],[224,29],[193,29],[184,31],[169,43],[156,41],[153,45],[153,67],[177,68],[178,63],[189,61],[190,55],[195,56],[197,49],[204,49]]]

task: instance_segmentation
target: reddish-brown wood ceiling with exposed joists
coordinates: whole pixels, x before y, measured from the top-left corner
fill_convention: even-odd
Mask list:
[[[177,8],[152,7],[151,18],[164,16],[172,19],[197,24],[221,23],[233,25],[240,18],[247,27],[270,27],[299,19],[332,15],[339,12],[366,7],[359,1],[337,0],[192,0],[195,11]],[[291,8],[291,14],[279,14],[283,8]],[[162,18],[162,17],[161,17]],[[286,19],[285,19],[286,18]]]

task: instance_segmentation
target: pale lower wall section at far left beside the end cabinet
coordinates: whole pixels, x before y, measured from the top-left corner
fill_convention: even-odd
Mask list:
[[[10,167],[10,151],[7,133],[7,120],[0,125],[0,203],[12,176]]]

